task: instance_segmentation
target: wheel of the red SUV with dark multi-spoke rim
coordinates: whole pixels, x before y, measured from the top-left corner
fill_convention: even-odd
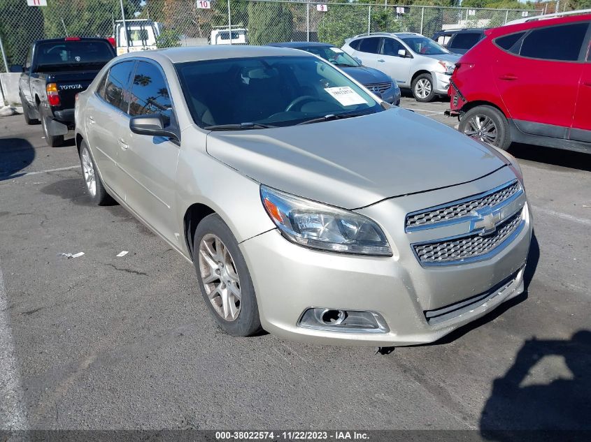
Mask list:
[[[460,119],[457,129],[470,138],[502,150],[511,145],[508,121],[500,110],[492,106],[480,105],[469,110]]]

